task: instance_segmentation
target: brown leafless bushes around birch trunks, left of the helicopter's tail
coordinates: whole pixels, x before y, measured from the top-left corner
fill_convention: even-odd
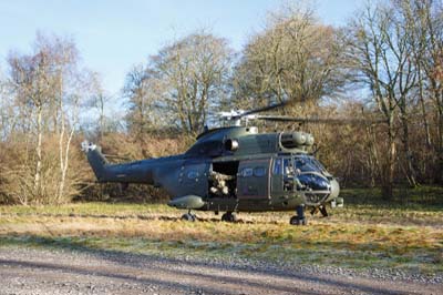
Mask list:
[[[74,143],[73,143],[74,144]],[[42,146],[41,187],[35,187],[34,146],[8,142],[1,146],[0,202],[8,204],[63,204],[80,194],[85,182],[79,149],[70,151],[70,169],[60,193],[61,170],[58,139],[48,138]]]

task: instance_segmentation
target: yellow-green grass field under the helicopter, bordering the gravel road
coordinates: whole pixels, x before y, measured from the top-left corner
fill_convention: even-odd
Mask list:
[[[344,191],[351,204],[310,217],[308,226],[290,226],[290,212],[241,213],[231,224],[214,213],[182,222],[181,211],[161,204],[0,206],[0,244],[443,273],[443,211],[435,202],[443,194],[434,192],[434,203],[420,195],[409,204],[371,204],[352,202],[356,192],[369,195]]]

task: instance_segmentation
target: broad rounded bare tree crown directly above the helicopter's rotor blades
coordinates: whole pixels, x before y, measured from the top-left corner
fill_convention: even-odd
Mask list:
[[[344,84],[339,32],[310,9],[286,6],[253,37],[236,68],[239,96],[317,103]]]

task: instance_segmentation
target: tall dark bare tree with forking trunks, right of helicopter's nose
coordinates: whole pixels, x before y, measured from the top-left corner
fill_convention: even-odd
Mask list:
[[[396,163],[396,114],[403,130],[403,144],[409,173],[415,184],[409,148],[408,105],[411,90],[416,84],[416,71],[411,60],[410,31],[393,6],[372,3],[349,26],[348,58],[356,70],[354,81],[365,84],[371,98],[384,115],[388,125],[388,156],[382,170],[383,195],[392,196]]]

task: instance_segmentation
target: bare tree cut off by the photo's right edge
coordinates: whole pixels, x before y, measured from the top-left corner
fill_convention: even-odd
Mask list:
[[[426,103],[433,105],[436,139],[434,144],[439,166],[435,180],[443,182],[443,84],[441,78],[443,55],[443,3],[436,0],[396,0],[411,32],[413,57],[419,75],[418,96],[425,128],[426,146],[431,146],[431,131]]]

